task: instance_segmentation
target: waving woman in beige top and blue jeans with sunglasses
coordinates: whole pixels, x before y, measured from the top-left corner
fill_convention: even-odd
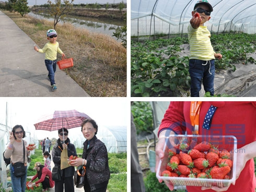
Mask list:
[[[27,163],[28,156],[30,155],[30,151],[27,150],[27,141],[23,140],[26,137],[26,132],[21,125],[15,125],[13,130],[10,132],[9,137],[9,145],[4,152],[5,158],[10,158],[10,178],[11,178],[11,187],[13,188],[13,192],[25,192],[26,189],[26,180],[27,180]],[[32,147],[33,149],[36,146]],[[24,155],[25,149],[25,155]],[[25,157],[25,159],[24,159]],[[14,174],[13,165],[18,162],[24,162],[24,166],[26,167],[26,171],[24,175],[17,177]]]

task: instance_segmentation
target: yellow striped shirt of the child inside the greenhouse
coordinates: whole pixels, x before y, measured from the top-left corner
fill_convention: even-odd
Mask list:
[[[188,36],[190,44],[190,59],[199,59],[209,61],[215,59],[213,46],[211,44],[211,33],[206,26],[200,26],[194,29],[191,25],[188,27]]]

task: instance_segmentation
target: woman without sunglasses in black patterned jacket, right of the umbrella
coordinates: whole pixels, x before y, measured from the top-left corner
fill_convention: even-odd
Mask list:
[[[102,141],[97,139],[98,125],[93,119],[82,124],[82,133],[86,138],[82,158],[71,161],[71,165],[86,166],[84,189],[86,192],[106,192],[110,178],[108,151]]]

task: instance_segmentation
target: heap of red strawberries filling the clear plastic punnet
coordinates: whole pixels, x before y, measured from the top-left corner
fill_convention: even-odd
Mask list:
[[[161,176],[230,179],[228,174],[233,163],[230,151],[219,151],[207,141],[192,142],[168,150],[168,163]]]

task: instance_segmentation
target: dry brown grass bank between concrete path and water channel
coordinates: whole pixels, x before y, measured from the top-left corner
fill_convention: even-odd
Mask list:
[[[45,33],[53,22],[21,17],[3,11],[42,48]],[[56,26],[57,41],[66,57],[74,58],[74,67],[64,69],[91,97],[126,97],[126,49],[108,35],[78,29],[70,23]],[[61,59],[58,54],[58,59]]]

